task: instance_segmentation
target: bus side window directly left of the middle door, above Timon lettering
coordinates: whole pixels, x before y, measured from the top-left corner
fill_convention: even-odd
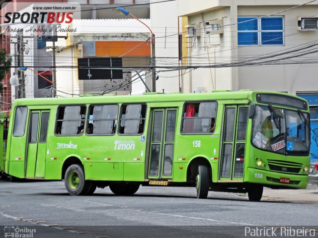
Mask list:
[[[142,134],[145,128],[146,104],[123,105],[120,115],[118,134]]]

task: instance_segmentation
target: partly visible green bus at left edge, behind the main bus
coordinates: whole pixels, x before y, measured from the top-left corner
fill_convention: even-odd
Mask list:
[[[6,143],[8,137],[9,128],[9,117],[10,112],[0,112],[0,148],[2,148],[2,153],[0,153],[0,178],[6,178],[5,174],[5,156],[6,156]]]

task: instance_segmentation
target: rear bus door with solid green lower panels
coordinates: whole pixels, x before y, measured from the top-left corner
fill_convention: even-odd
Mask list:
[[[25,178],[44,178],[49,117],[49,111],[31,111],[30,113]]]

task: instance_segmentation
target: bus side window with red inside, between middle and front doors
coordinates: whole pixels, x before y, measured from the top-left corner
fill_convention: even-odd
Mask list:
[[[210,134],[215,130],[216,102],[185,103],[182,119],[182,133]]]

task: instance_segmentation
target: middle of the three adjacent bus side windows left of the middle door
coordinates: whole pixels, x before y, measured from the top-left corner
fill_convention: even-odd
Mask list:
[[[118,105],[90,106],[86,134],[115,134],[118,111]]]

